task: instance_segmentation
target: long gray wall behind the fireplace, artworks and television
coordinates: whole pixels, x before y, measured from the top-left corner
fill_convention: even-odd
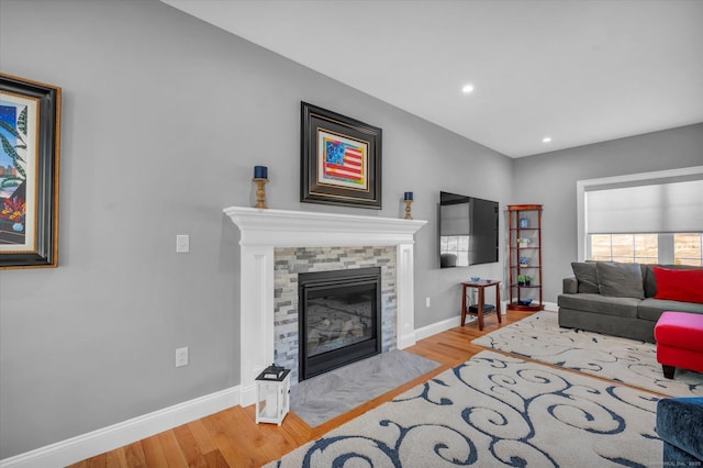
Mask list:
[[[0,60],[64,90],[59,267],[0,271],[0,458],[238,383],[222,209],[253,204],[254,165],[278,209],[398,218],[414,191],[416,326],[456,316],[460,279],[502,275],[439,270],[436,203],[506,204],[511,159],[166,4],[0,0]],[[382,211],[298,202],[301,100],[383,129]]]

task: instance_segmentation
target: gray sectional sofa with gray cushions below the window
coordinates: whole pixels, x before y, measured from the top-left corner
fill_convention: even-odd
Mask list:
[[[559,326],[655,343],[654,328],[665,311],[703,314],[703,303],[655,299],[657,265],[573,263],[558,297]],[[667,269],[700,269],[661,265]]]

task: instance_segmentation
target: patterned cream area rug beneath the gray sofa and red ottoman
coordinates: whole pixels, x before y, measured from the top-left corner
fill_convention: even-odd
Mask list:
[[[703,395],[703,374],[677,369],[673,380],[663,377],[656,345],[560,328],[555,312],[538,312],[471,343],[670,397]]]

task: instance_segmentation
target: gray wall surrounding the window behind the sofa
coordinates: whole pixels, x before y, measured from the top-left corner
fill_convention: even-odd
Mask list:
[[[703,124],[515,160],[514,197],[542,203],[545,301],[556,302],[577,260],[578,180],[703,165]]]

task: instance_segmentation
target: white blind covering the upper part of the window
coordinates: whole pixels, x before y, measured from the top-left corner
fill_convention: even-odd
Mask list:
[[[587,189],[588,190],[588,189]],[[585,233],[703,231],[703,179],[585,192]]]

